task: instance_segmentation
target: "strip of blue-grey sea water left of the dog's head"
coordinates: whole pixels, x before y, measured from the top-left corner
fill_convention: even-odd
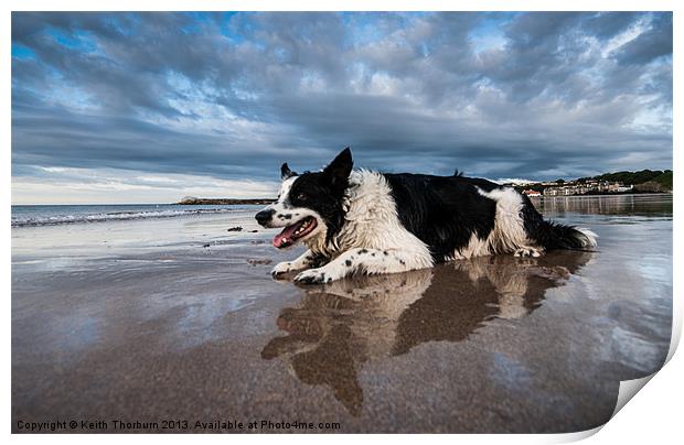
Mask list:
[[[12,227],[54,226],[78,223],[173,218],[243,211],[249,205],[17,205],[12,206]]]

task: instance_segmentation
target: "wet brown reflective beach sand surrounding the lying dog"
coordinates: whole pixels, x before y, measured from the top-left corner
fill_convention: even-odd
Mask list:
[[[268,272],[300,249],[276,251],[246,214],[12,229],[12,431],[25,431],[20,421],[78,433],[216,432],[215,421],[245,426],[222,432],[600,425],[620,380],[667,354],[672,197],[535,204],[594,229],[600,251],[297,286]]]

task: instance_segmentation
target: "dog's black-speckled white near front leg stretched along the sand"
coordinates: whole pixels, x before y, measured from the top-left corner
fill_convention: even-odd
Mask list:
[[[295,276],[299,283],[330,283],[352,273],[374,275],[429,268],[431,259],[402,250],[356,248],[348,250],[322,268],[309,269]]]

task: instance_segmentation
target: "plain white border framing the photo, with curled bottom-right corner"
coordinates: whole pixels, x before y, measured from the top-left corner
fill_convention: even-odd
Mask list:
[[[2,35],[2,45],[0,46],[0,72],[2,73],[2,79],[4,88],[0,93],[2,98],[2,177],[4,178],[6,186],[0,192],[0,199],[2,199],[2,216],[4,226],[2,227],[2,242],[4,256],[2,257],[2,286],[3,286],[3,302],[4,302],[4,316],[6,323],[3,324],[3,341],[2,341],[2,356],[6,358],[11,357],[11,227],[10,227],[10,209],[11,209],[11,11],[41,11],[41,10],[64,10],[64,11],[87,11],[87,10],[100,10],[100,11],[175,11],[175,10],[193,10],[193,11],[362,11],[362,10],[391,10],[391,11],[429,11],[429,10],[453,10],[453,11],[674,11],[674,54],[673,54],[673,79],[677,78],[677,75],[682,73],[682,54],[678,51],[677,42],[681,40],[681,30],[683,20],[680,15],[682,8],[680,4],[683,2],[674,0],[651,0],[651,1],[616,1],[616,0],[574,0],[574,1],[557,1],[551,3],[548,1],[530,0],[481,0],[473,1],[435,1],[423,0],[420,2],[406,1],[406,0],[348,0],[344,2],[330,1],[325,4],[317,3],[313,1],[292,0],[284,3],[282,1],[264,0],[264,1],[210,1],[210,0],[167,0],[167,1],[148,1],[148,0],[101,0],[97,4],[83,0],[63,0],[57,2],[39,1],[39,0],[9,0],[2,3],[3,13],[0,15],[0,33]],[[287,6],[287,8],[286,8]],[[681,94],[677,88],[677,83],[674,82],[673,89],[673,146],[680,146],[681,132],[677,130],[676,118],[680,116],[681,110]],[[681,153],[676,150],[673,153],[673,170],[674,170],[674,195],[678,196],[682,191],[682,172],[678,170],[681,163]],[[681,202],[674,199],[674,215],[678,215],[681,210]],[[676,221],[676,219],[675,219]],[[673,270],[682,270],[682,237],[674,226],[674,239],[673,239]],[[684,384],[682,383],[682,376],[684,376],[684,360],[682,354],[678,357],[674,357],[674,352],[678,346],[682,330],[682,297],[677,296],[677,291],[682,289],[682,276],[674,274],[673,276],[674,296],[673,296],[673,337],[671,341],[670,352],[667,356],[667,362],[663,370],[656,372],[658,376],[653,378],[653,382],[649,383],[649,389],[642,391],[635,401],[628,403],[627,406],[620,411],[620,413],[611,420],[603,432],[598,435],[594,435],[601,427],[591,430],[588,432],[559,434],[559,435],[459,435],[458,438],[450,437],[449,435],[424,435],[420,439],[428,441],[466,441],[468,443],[558,443],[558,442],[573,442],[594,435],[590,441],[611,441],[621,443],[643,443],[644,441],[655,441],[671,443],[673,437],[682,436],[681,425],[681,404]],[[11,431],[11,379],[10,379],[11,363],[10,360],[4,360],[2,367],[2,420],[3,432],[6,435],[10,435]],[[633,395],[633,394],[632,394]],[[217,435],[192,435],[191,437],[184,437],[182,435],[131,435],[127,436],[126,441],[143,442],[145,443],[186,443],[189,438],[196,441],[202,437],[203,441],[225,443],[226,438]],[[18,443],[33,443],[43,439],[55,441],[62,443],[90,443],[93,436],[85,435],[11,435],[12,441]],[[333,443],[342,443],[342,441],[349,441],[349,436],[343,435],[325,435],[324,441]],[[409,436],[400,435],[373,435],[363,437],[367,441],[376,439],[389,439],[389,441],[408,441]],[[122,437],[118,435],[99,435],[98,442],[118,443]],[[232,436],[231,442],[247,442],[255,439],[254,436]],[[320,441],[318,435],[259,435],[259,441],[278,441],[279,443],[297,443]],[[357,437],[354,437],[356,441]]]

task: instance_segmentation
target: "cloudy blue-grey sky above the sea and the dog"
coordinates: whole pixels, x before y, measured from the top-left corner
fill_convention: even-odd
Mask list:
[[[14,204],[672,167],[670,13],[13,13]]]

